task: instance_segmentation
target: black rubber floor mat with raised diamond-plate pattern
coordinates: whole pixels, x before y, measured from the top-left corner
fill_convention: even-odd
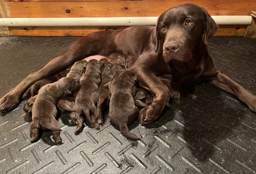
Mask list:
[[[0,96],[62,52],[74,37],[0,38]],[[216,67],[256,94],[256,40],[215,37],[209,43]],[[197,99],[170,103],[151,125],[135,122],[127,140],[110,124],[86,126],[74,135],[69,116],[60,119],[63,144],[51,132],[30,143],[31,118],[23,101],[0,117],[0,173],[256,173],[256,114],[235,97],[209,84]]]

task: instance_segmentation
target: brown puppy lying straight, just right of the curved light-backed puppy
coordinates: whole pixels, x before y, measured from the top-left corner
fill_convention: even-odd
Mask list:
[[[97,93],[101,81],[100,64],[96,59],[91,59],[87,63],[86,72],[80,78],[80,90],[76,93],[76,112],[83,121],[83,115],[86,116],[95,129],[100,129],[98,124],[97,112]],[[82,122],[81,121],[81,122]],[[75,133],[82,130],[82,125],[77,126]]]

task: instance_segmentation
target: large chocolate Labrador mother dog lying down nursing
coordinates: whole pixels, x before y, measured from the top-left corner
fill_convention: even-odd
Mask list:
[[[132,26],[124,30],[94,32],[72,42],[47,65],[31,73],[0,99],[0,109],[14,109],[23,93],[36,81],[53,75],[90,55],[118,52],[134,62],[131,71],[140,86],[154,97],[152,105],[140,111],[140,123],[149,124],[162,113],[169,89],[157,77],[171,75],[172,81],[206,80],[240,99],[256,112],[256,96],[219,71],[208,53],[208,39],[218,26],[208,12],[194,4],[182,4],[163,12],[154,26]]]

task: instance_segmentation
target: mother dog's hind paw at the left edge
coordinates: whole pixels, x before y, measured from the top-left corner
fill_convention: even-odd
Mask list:
[[[16,95],[12,95],[10,93],[7,93],[0,99],[0,111],[2,112],[8,112],[12,111],[15,107],[18,106],[20,103],[19,97]]]

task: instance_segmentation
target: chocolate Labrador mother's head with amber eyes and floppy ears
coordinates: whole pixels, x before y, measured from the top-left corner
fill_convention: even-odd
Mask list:
[[[194,48],[201,41],[208,45],[208,39],[217,31],[218,25],[204,8],[182,4],[160,15],[152,42],[156,45],[156,51],[162,44],[166,63],[171,59],[187,62],[191,59]]]

